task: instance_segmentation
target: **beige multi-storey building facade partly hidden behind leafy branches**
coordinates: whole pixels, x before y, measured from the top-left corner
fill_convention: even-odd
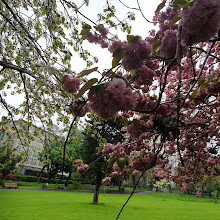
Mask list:
[[[24,132],[25,126],[24,121],[16,121],[20,138],[15,129],[13,129],[11,122],[4,129],[0,129],[0,147],[11,138],[12,149],[15,154],[23,153],[24,155],[23,160],[17,164],[19,174],[35,175],[43,168],[39,160],[39,153],[55,139],[55,136],[34,125],[28,127],[28,133],[27,130]]]

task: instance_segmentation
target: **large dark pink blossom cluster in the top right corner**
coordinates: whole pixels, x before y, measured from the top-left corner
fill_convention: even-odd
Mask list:
[[[220,1],[196,0],[181,13],[182,45],[208,41],[220,29]]]

